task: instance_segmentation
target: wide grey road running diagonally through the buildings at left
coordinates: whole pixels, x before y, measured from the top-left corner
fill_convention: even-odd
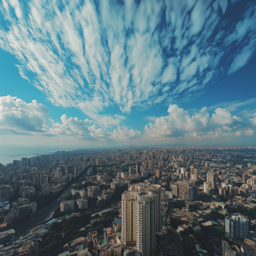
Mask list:
[[[85,173],[84,173],[84,175],[85,175]],[[16,230],[15,236],[20,237],[20,236],[22,236],[22,234],[28,232],[29,230],[36,227],[40,223],[42,223],[46,220],[49,220],[51,218],[52,212],[54,212],[55,209],[60,206],[61,201],[65,200],[67,195],[71,193],[72,187],[81,184],[81,182],[83,181],[84,175],[81,178],[79,178],[78,180],[76,180],[76,182],[70,184],[70,187],[57,200],[52,202],[51,205],[49,205],[49,206],[45,207],[44,209],[42,209],[41,211],[38,211],[35,214],[33,214],[29,221],[27,221],[24,225],[22,225],[22,227],[20,227]]]

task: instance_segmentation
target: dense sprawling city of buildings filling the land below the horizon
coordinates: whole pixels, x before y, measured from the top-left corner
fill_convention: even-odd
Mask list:
[[[255,146],[57,151],[0,171],[2,255],[256,253]]]

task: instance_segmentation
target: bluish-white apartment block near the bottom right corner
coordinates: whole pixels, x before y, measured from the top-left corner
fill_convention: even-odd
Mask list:
[[[248,237],[249,221],[239,214],[229,214],[225,217],[225,237],[228,239],[244,239]]]

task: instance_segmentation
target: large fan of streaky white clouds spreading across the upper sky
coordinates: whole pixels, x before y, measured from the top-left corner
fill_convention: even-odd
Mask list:
[[[255,52],[255,5],[243,1],[2,2],[0,47],[20,76],[105,127],[181,93],[194,99]],[[116,116],[102,114],[113,106]]]

